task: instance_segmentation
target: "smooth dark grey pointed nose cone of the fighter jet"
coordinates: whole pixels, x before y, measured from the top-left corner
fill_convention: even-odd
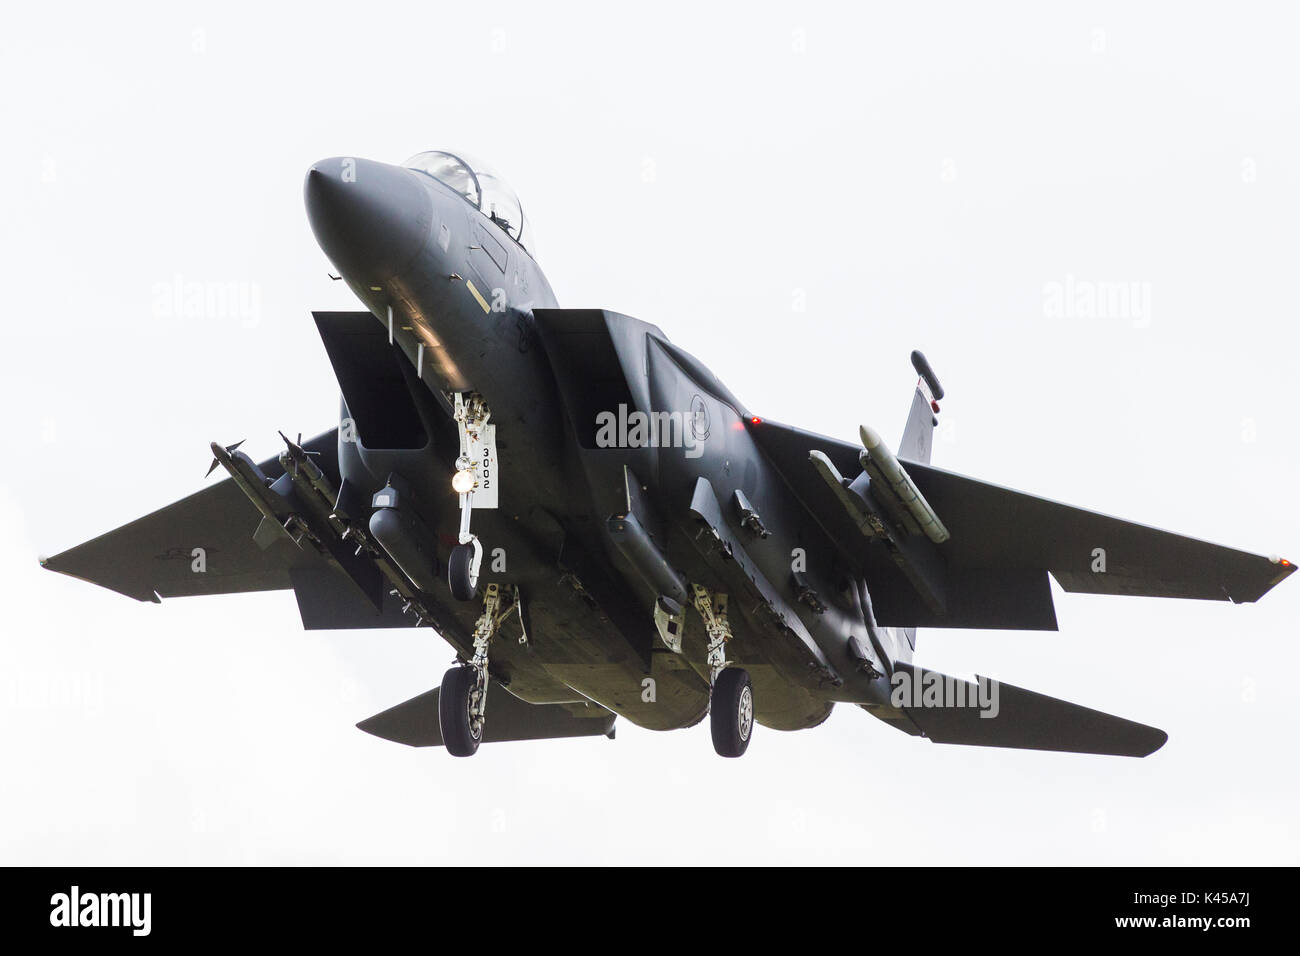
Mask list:
[[[303,196],[316,242],[348,278],[378,282],[424,248],[433,199],[402,166],[335,156],[307,170]]]

